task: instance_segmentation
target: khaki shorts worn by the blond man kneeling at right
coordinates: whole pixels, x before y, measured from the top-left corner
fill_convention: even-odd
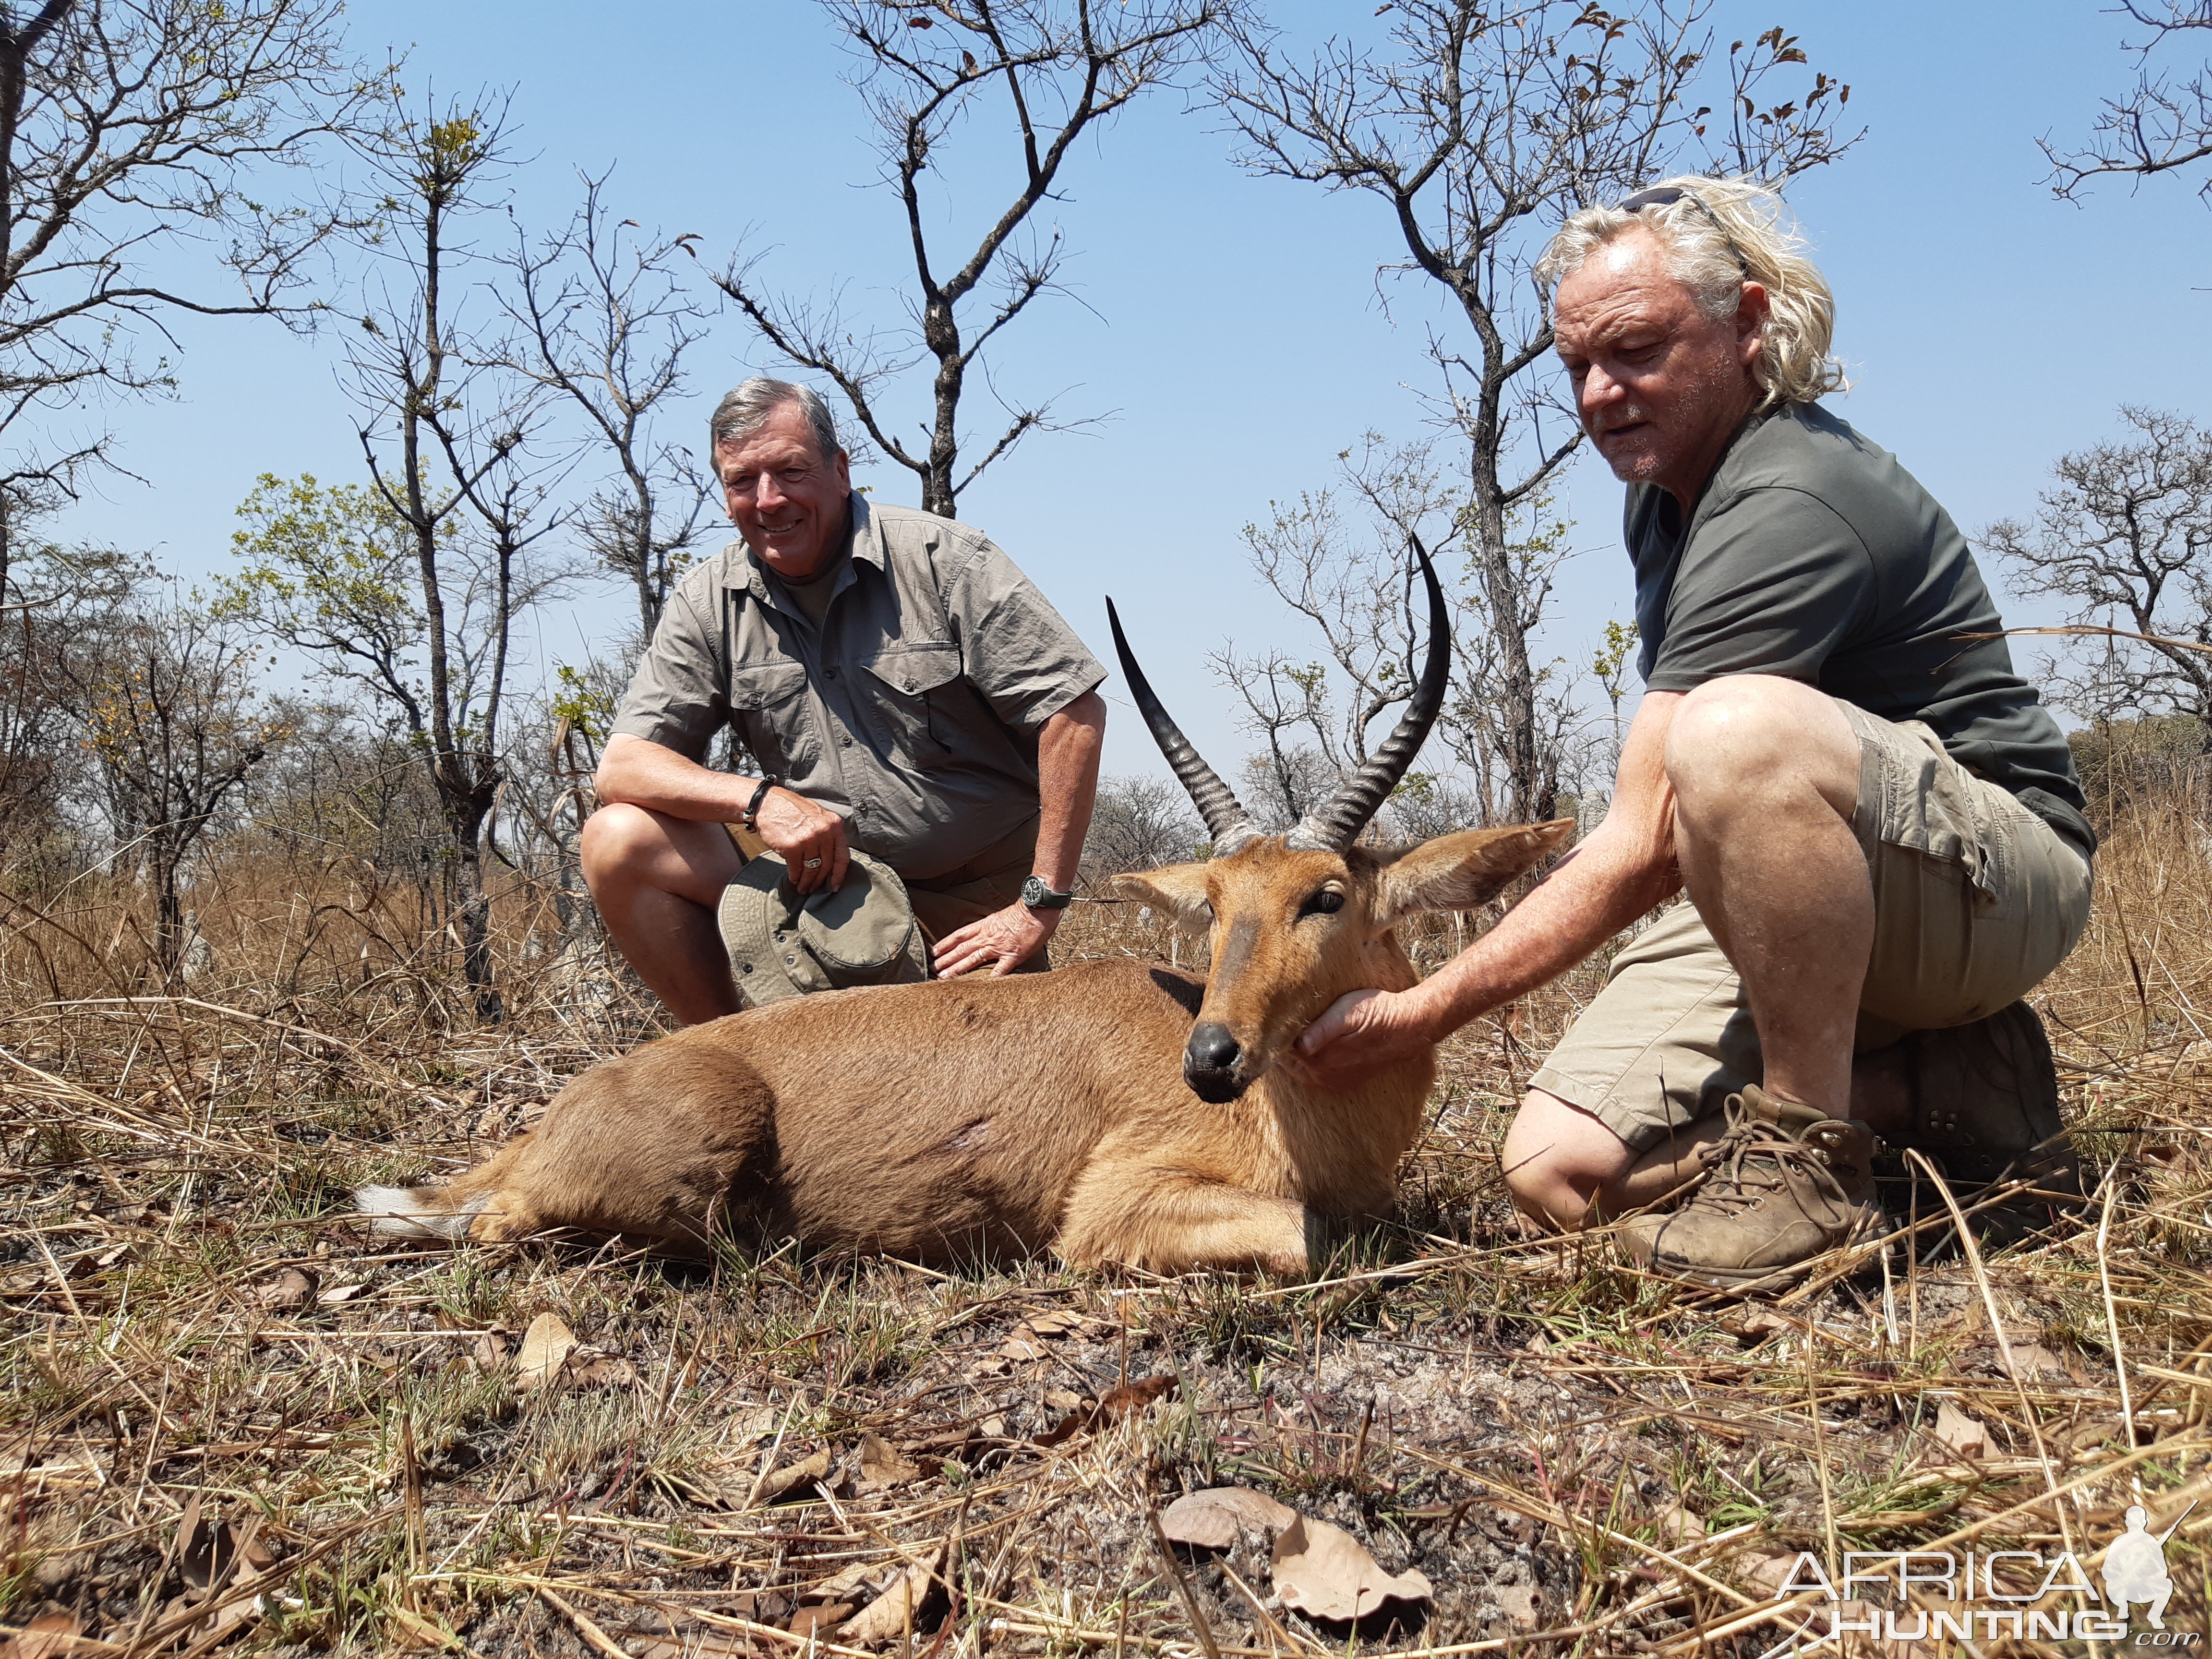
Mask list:
[[[1838,701],[1858,734],[1851,827],[1874,876],[1858,1051],[1980,1020],[2033,991],[2088,927],[2090,865],[1920,721]],[[1761,1079],[1743,982],[1690,902],[1617,958],[1531,1088],[1597,1117],[1630,1150],[1712,1117]]]

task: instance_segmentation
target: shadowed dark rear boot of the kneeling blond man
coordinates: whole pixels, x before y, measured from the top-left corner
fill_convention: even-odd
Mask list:
[[[1911,1077],[1913,1126],[1891,1146],[1922,1152],[1953,1194],[1971,1203],[1997,1181],[2035,1183],[2011,1206],[2039,1219],[2081,1199],[2081,1166],[2059,1119],[2059,1071],[2044,1022],[2026,1002],[1900,1044]]]

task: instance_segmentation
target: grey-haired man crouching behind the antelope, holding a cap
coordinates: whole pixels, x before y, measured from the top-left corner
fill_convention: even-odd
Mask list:
[[[686,1024],[734,1013],[714,905],[750,816],[801,894],[836,889],[854,847],[896,869],[942,978],[1048,967],[1106,670],[987,538],[858,495],[814,392],[752,378],[712,442],[743,542],[670,595],[584,825],[615,942]],[[703,765],[726,726],[765,776]]]

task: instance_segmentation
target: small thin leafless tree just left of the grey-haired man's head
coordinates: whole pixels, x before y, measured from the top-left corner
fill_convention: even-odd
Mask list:
[[[593,560],[637,591],[639,641],[648,641],[712,502],[692,451],[655,425],[684,396],[684,354],[712,312],[684,281],[697,237],[626,237],[637,226],[606,206],[606,177],[584,177],[584,201],[557,234],[533,246],[515,232],[507,259],[515,338],[500,356],[580,414],[611,467],[580,531]]]

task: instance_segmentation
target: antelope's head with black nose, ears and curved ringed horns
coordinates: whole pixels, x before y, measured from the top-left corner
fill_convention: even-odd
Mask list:
[[[1121,675],[1152,739],[1190,792],[1214,856],[1117,876],[1113,887],[1206,933],[1212,973],[1183,1048],[1183,1077],[1208,1102],[1243,1095],[1298,1033],[1345,991],[1405,991],[1416,982],[1396,922],[1420,909],[1471,909],[1566,841],[1573,818],[1509,830],[1462,830],[1416,847],[1354,845],[1398,787],[1444,703],[1451,619],[1427,551],[1413,557],[1429,586],[1429,655],[1405,717],[1374,757],[1287,834],[1263,836],[1221,776],[1177,730],[1130,655],[1106,602]]]

